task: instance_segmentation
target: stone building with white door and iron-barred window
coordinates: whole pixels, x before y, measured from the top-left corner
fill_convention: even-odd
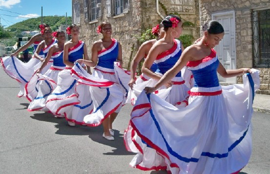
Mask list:
[[[253,67],[261,71],[258,93],[270,94],[270,0],[200,0],[200,22],[216,20],[225,36],[215,48],[227,69]],[[223,79],[242,83],[242,78]]]

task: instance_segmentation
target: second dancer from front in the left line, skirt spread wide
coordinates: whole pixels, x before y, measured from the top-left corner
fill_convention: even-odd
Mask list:
[[[64,44],[65,69],[58,74],[57,87],[48,96],[46,107],[56,116],[65,117],[69,126],[82,125],[83,117],[93,109],[89,87],[78,83],[71,76],[71,69],[79,59],[88,59],[86,44],[79,40],[80,30],[76,24],[66,29],[71,40]],[[90,72],[90,68],[87,68]]]

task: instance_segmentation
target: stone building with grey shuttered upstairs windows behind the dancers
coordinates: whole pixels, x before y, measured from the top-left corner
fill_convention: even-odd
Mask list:
[[[110,22],[112,37],[123,47],[125,68],[138,50],[142,32],[168,14],[180,16],[185,22],[183,34],[199,38],[199,0],[72,0],[72,22],[79,25],[88,54],[92,43],[102,37],[96,32],[97,26]]]

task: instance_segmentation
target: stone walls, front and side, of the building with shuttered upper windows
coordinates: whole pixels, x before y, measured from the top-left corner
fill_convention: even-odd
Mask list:
[[[72,0],[72,3],[75,0]],[[170,0],[159,0],[163,3]],[[113,38],[117,39],[123,47],[123,62],[127,68],[130,60],[135,56],[139,48],[138,37],[146,28],[156,26],[162,18],[156,12],[156,0],[129,0],[129,12],[120,16],[107,17],[106,0],[102,0],[102,17],[96,22],[85,22],[83,13],[84,0],[80,2],[80,39],[87,44],[89,57],[91,56],[91,46],[94,41],[102,38],[96,33],[97,26],[104,21],[110,22],[113,29]],[[179,15],[184,21],[195,24],[193,27],[186,27],[183,33],[192,34],[195,39],[199,38],[199,0],[195,0],[195,14]],[[160,13],[166,17],[166,6],[159,4]],[[133,48],[133,51],[132,51]]]

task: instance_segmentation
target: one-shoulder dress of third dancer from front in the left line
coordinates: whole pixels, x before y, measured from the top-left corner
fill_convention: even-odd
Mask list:
[[[57,78],[65,67],[63,63],[63,51],[53,53],[53,65],[44,74],[34,73],[33,77],[25,85],[26,98],[30,101],[28,111],[48,111],[45,108],[47,97],[57,86]]]

